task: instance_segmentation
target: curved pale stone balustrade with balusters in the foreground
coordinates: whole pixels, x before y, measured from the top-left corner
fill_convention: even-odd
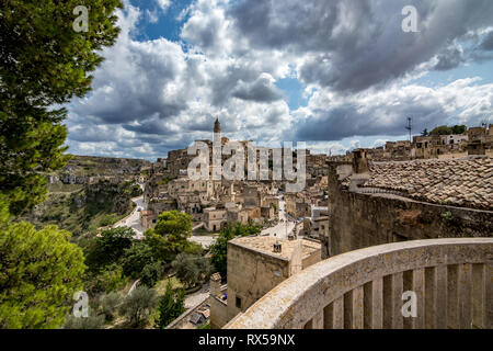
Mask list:
[[[284,281],[225,328],[492,328],[492,263],[493,238],[351,251]],[[402,314],[406,291],[416,317]]]

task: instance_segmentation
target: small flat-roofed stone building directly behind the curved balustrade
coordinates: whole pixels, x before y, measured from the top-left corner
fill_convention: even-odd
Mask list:
[[[280,282],[320,260],[320,244],[313,240],[252,236],[229,241],[228,285],[220,286],[218,273],[210,282],[211,328],[221,328]]]

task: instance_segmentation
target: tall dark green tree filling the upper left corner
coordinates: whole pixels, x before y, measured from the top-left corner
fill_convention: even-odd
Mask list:
[[[90,9],[88,32],[72,27],[80,4]],[[89,72],[118,35],[121,7],[119,0],[0,2],[0,199],[12,214],[42,202],[41,172],[67,161],[67,111],[53,106],[90,90]]]

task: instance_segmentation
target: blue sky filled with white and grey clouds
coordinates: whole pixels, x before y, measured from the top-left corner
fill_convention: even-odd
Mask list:
[[[493,123],[491,0],[123,2],[92,91],[67,105],[71,154],[156,160],[217,117],[230,139],[331,155],[406,139],[409,116],[414,135]]]

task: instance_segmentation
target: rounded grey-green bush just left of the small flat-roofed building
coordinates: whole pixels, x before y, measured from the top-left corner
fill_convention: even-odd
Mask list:
[[[187,287],[203,283],[211,271],[210,260],[208,258],[190,253],[177,254],[171,265],[175,270],[176,276]]]

